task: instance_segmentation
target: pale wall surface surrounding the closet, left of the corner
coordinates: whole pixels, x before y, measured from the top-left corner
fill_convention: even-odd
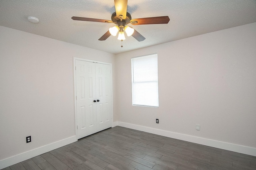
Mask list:
[[[113,54],[0,26],[0,160],[76,139],[73,57],[114,70]]]

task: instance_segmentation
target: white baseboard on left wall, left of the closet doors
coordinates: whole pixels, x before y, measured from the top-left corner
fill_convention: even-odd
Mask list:
[[[77,141],[76,136],[72,136],[72,137],[69,137],[69,138],[51,143],[49,145],[45,145],[45,146],[42,146],[42,147],[39,147],[39,148],[36,148],[36,149],[33,149],[33,150],[29,150],[29,151],[24,152],[24,153],[21,153],[21,154],[17,154],[15,156],[10,157],[10,158],[0,160],[0,169],[6,168],[6,167],[11,166],[11,165],[14,165],[18,162],[22,162],[24,160],[33,158],[35,156],[38,156],[40,154],[49,152],[51,150],[63,147],[65,145],[68,145],[68,144],[76,142],[76,141]]]

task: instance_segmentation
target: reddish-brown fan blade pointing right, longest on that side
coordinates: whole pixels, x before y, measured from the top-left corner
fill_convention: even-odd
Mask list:
[[[144,25],[144,24],[161,24],[168,23],[170,18],[168,16],[161,17],[149,17],[149,18],[137,18],[130,20],[132,25]]]

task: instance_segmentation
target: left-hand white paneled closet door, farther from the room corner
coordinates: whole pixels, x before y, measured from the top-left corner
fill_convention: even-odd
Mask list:
[[[95,63],[76,60],[78,139],[97,132]]]

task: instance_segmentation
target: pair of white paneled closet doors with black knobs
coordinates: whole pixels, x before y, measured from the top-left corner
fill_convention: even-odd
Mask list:
[[[78,139],[112,126],[111,65],[75,60]]]

